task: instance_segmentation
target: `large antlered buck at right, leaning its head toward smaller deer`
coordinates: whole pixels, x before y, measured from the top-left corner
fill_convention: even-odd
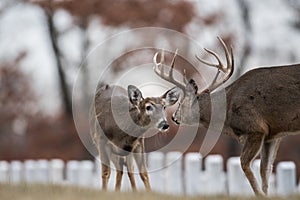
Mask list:
[[[216,89],[232,75],[234,59],[232,48],[228,50],[223,40],[218,39],[225,51],[227,65],[223,65],[220,57],[208,49],[205,51],[216,58],[217,64],[197,57],[201,63],[217,69],[213,82],[201,92],[193,79],[187,81],[185,73],[183,82],[174,80],[174,62],[169,73],[165,74],[164,63],[157,63],[158,53],[153,58],[155,73],[183,90],[184,96],[173,114],[173,121],[177,124],[201,123],[208,127],[212,108],[210,93],[213,92],[214,97],[224,94]],[[175,57],[176,54],[173,61]],[[218,77],[220,72],[224,73],[221,80]],[[242,169],[255,194],[267,194],[268,179],[281,138],[300,133],[300,64],[253,69],[226,87],[225,94],[226,118],[222,133],[243,143]],[[251,170],[251,163],[259,153],[262,190]]]

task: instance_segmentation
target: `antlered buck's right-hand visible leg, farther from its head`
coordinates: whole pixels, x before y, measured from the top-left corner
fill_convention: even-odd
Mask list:
[[[260,176],[262,180],[262,190],[266,195],[268,194],[269,177],[272,173],[272,165],[274,163],[279,144],[280,139],[264,142],[260,152]]]

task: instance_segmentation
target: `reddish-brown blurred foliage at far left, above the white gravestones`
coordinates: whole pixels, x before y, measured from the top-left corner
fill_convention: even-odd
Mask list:
[[[25,55],[0,66],[0,160],[91,158],[72,118],[38,110],[30,79],[19,65]]]

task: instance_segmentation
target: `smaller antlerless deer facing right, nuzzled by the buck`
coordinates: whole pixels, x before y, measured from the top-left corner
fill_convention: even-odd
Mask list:
[[[123,167],[127,167],[133,190],[136,161],[140,177],[147,191],[151,190],[144,155],[143,134],[149,128],[166,131],[169,128],[165,107],[176,103],[177,89],[167,91],[161,97],[143,98],[141,91],[133,85],[126,91],[119,86],[98,87],[91,107],[91,134],[100,154],[102,166],[102,188],[107,189],[110,176],[110,161],[115,165],[116,185],[120,190]]]

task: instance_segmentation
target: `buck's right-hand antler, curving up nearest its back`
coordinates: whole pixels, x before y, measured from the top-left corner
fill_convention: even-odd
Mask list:
[[[196,58],[202,62],[203,64],[205,65],[208,65],[208,66],[211,66],[211,67],[216,67],[218,69],[218,72],[215,76],[215,78],[213,79],[212,83],[204,90],[205,92],[212,92],[213,90],[215,90],[216,88],[218,88],[220,85],[222,85],[223,83],[225,83],[233,74],[233,70],[234,70],[234,58],[233,58],[233,50],[232,50],[232,47],[230,46],[230,53],[228,51],[228,48],[225,44],[225,42],[220,38],[218,37],[218,40],[221,42],[222,44],[222,47],[225,51],[225,56],[226,56],[226,63],[227,63],[227,66],[224,66],[220,57],[213,51],[209,50],[209,49],[206,49],[204,48],[204,50],[206,52],[208,52],[209,54],[213,55],[217,61],[218,61],[218,64],[214,64],[214,63],[209,63],[201,58],[199,58],[197,55],[196,55]],[[218,76],[220,74],[220,72],[223,72],[225,73],[225,77],[222,79],[222,81],[217,81],[218,79]]]

